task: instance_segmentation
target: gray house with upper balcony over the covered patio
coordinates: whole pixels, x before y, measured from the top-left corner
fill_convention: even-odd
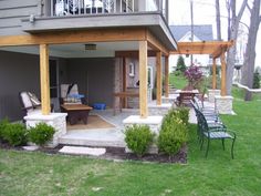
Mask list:
[[[0,118],[21,118],[20,91],[46,92],[44,58],[56,110],[63,83],[77,83],[91,105],[112,107],[114,92],[136,87],[145,62],[176,50],[167,19],[168,0],[1,0]]]

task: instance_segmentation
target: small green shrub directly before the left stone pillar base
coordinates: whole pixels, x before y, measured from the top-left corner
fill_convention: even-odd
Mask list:
[[[39,123],[36,126],[29,130],[29,140],[36,145],[42,146],[53,137],[54,133],[54,127],[46,123]]]

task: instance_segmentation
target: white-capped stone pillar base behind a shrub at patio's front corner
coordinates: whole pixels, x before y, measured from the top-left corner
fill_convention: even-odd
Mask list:
[[[130,115],[123,121],[124,127],[132,126],[134,124],[148,125],[150,131],[156,134],[156,137],[159,134],[161,123],[163,123],[163,116],[159,116],[159,115],[158,116],[148,116],[146,118],[140,118],[139,115]],[[130,149],[125,147],[125,152],[129,153]],[[148,153],[149,154],[157,154],[158,153],[157,145],[153,144],[149,147]]]

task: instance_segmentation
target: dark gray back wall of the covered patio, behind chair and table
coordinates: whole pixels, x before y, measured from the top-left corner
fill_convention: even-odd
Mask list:
[[[77,83],[80,93],[87,96],[88,104],[103,102],[113,106],[113,58],[70,59],[67,76],[70,83]]]

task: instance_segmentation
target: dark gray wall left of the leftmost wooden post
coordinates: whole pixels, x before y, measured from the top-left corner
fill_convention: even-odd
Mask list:
[[[0,51],[0,118],[22,118],[20,91],[40,95],[39,55]]]

